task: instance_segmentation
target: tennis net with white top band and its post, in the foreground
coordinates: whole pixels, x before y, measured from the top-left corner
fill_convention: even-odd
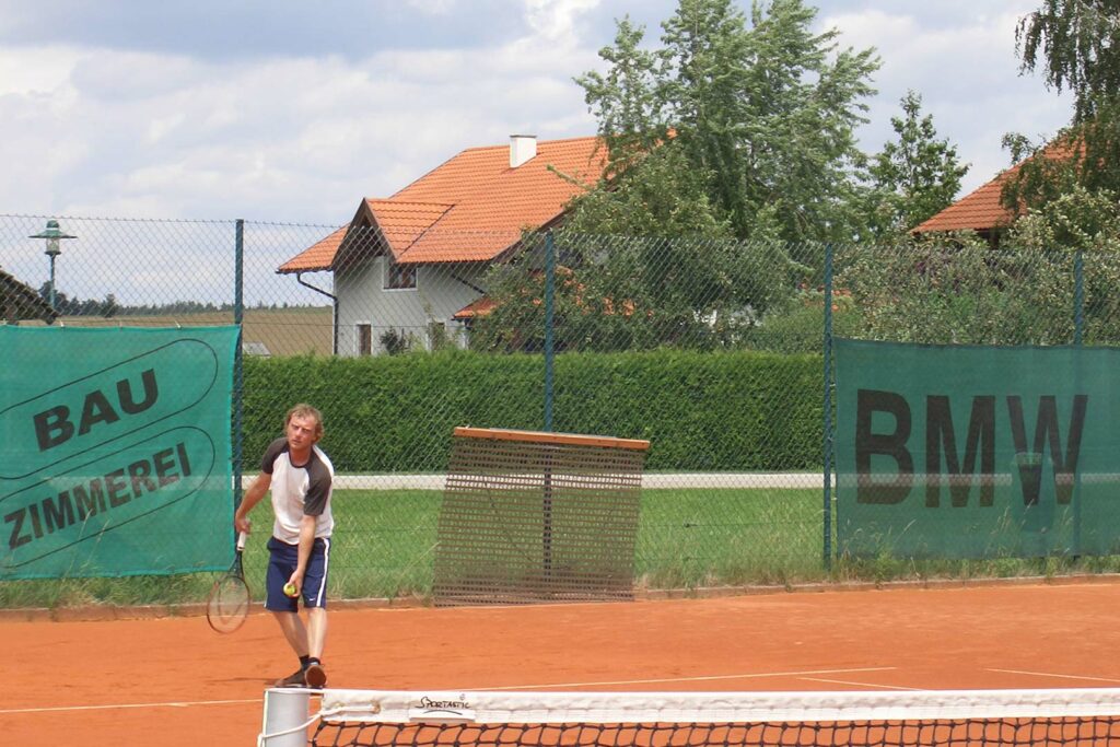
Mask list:
[[[310,715],[306,692],[270,690],[264,729],[263,747],[1100,747],[1120,745],[1120,689],[327,690]]]

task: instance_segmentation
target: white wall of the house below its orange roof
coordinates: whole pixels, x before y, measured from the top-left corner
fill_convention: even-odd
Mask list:
[[[426,265],[418,269],[412,289],[386,289],[385,258],[376,258],[336,273],[338,297],[338,354],[357,355],[358,325],[371,327],[374,355],[384,352],[381,336],[389,329],[411,336],[412,345],[429,348],[429,323],[445,325],[447,338],[466,345],[461,324],[451,315],[477,300],[480,293],[457,278],[482,287],[483,264]]]

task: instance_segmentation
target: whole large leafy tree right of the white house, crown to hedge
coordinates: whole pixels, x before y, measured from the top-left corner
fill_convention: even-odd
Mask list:
[[[557,349],[741,344],[812,272],[787,242],[855,235],[855,129],[878,62],[814,18],[801,0],[756,2],[749,20],[732,0],[679,0],[654,49],[618,21],[606,71],[576,78],[608,153],[554,235]],[[534,242],[487,277],[473,345],[541,348]]]

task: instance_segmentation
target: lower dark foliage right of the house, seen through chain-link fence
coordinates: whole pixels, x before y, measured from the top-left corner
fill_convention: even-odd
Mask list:
[[[545,336],[545,239],[486,277],[493,309],[476,320],[476,349],[538,352]],[[784,244],[706,236],[552,234],[557,351],[712,349],[741,344],[759,315],[806,269]]]

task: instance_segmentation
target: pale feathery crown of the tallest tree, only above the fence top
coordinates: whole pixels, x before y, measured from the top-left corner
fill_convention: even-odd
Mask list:
[[[878,60],[838,49],[834,30],[814,35],[815,15],[801,0],[755,2],[748,26],[731,0],[680,0],[653,52],[641,49],[643,29],[619,21],[600,52],[607,73],[577,78],[614,175],[642,169],[635,153],[671,139],[702,180],[698,209],[735,236],[850,237],[855,129]]]

